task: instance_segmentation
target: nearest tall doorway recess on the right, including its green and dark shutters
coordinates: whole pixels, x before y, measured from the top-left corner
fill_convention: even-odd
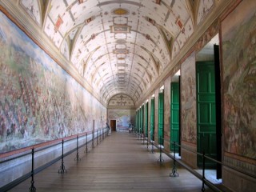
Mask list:
[[[222,162],[222,103],[221,71],[219,62],[219,37],[216,34],[197,53],[197,114],[198,152]],[[198,159],[202,166],[202,158]],[[222,165],[206,161],[206,167],[216,170],[222,178]]]

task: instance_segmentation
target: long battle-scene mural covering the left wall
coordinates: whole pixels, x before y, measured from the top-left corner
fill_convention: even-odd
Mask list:
[[[102,127],[106,108],[2,12],[0,50],[0,154]]]

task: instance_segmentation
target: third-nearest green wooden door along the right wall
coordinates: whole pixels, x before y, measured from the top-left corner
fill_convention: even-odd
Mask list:
[[[163,146],[163,114],[164,114],[164,94],[158,94],[158,143]]]

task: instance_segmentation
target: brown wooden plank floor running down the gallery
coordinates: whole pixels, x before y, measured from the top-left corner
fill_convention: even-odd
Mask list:
[[[171,178],[172,162],[147,150],[134,134],[112,132],[90,153],[79,152],[64,158],[66,174],[58,174],[61,162],[34,177],[37,191],[201,191],[202,182],[178,166],[179,177]],[[29,191],[30,179],[11,191]],[[207,189],[206,191],[211,191]]]

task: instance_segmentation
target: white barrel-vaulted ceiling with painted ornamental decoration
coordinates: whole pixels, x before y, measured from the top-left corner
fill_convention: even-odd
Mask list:
[[[107,102],[138,102],[214,0],[20,0],[66,60]]]

